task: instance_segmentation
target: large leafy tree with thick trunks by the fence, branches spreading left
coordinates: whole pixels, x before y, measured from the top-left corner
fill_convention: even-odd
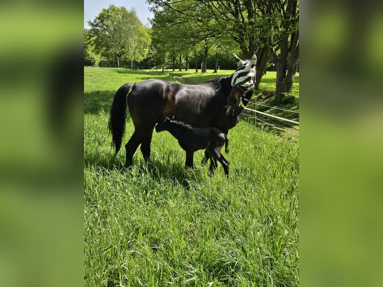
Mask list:
[[[277,66],[276,100],[291,90],[299,60],[298,0],[147,0],[161,11],[171,9],[173,23],[189,23],[193,37],[220,38],[227,35],[239,46],[243,58],[255,51],[256,84],[271,55]],[[202,39],[200,37],[203,37]],[[206,49],[204,50],[206,53]],[[286,72],[287,70],[287,72]]]

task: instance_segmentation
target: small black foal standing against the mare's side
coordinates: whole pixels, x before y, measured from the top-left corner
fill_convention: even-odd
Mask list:
[[[191,127],[183,122],[171,120],[168,116],[163,116],[155,126],[156,132],[162,130],[167,130],[178,139],[179,145],[186,151],[186,166],[193,166],[194,151],[205,149],[206,158],[210,158],[210,171],[215,171],[218,160],[228,176],[229,162],[221,153],[223,144],[225,151],[228,152],[228,140],[224,132],[215,127]]]

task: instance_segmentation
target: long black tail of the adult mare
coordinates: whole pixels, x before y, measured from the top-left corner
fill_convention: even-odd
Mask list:
[[[122,136],[125,132],[127,94],[135,83],[125,83],[115,92],[113,103],[110,108],[109,131],[111,132],[111,145],[115,147],[117,154],[121,147]]]

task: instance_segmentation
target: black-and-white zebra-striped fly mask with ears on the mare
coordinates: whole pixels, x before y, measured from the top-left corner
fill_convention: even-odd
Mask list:
[[[255,76],[256,55],[255,53],[253,54],[251,61],[243,61],[235,53],[233,53],[233,56],[237,61],[238,68],[232,75],[231,86],[247,87],[253,82]]]

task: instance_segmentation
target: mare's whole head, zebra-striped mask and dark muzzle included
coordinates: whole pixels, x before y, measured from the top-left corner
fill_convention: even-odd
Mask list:
[[[238,107],[246,89],[255,82],[256,55],[254,53],[251,60],[241,60],[235,53],[233,56],[238,68],[232,74],[232,88],[227,97],[227,103],[232,107]]]

